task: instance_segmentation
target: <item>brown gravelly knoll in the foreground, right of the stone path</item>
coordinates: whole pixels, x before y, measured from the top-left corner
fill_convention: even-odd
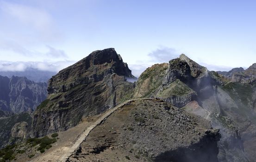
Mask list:
[[[218,162],[218,131],[162,100],[137,100],[95,127],[69,162]]]

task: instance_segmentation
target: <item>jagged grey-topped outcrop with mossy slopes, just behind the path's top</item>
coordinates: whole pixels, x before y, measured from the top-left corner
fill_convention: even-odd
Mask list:
[[[200,85],[204,76],[207,76],[207,69],[182,54],[169,64],[156,64],[146,69],[138,78],[133,97],[154,96],[183,107],[197,98],[197,93],[185,83],[193,85],[191,81],[197,79],[194,83]]]

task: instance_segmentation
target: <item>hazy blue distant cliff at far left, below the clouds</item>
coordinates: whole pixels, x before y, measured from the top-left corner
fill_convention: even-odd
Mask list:
[[[25,77],[0,76],[0,110],[14,113],[35,110],[46,99],[46,88],[46,83],[35,83]]]

